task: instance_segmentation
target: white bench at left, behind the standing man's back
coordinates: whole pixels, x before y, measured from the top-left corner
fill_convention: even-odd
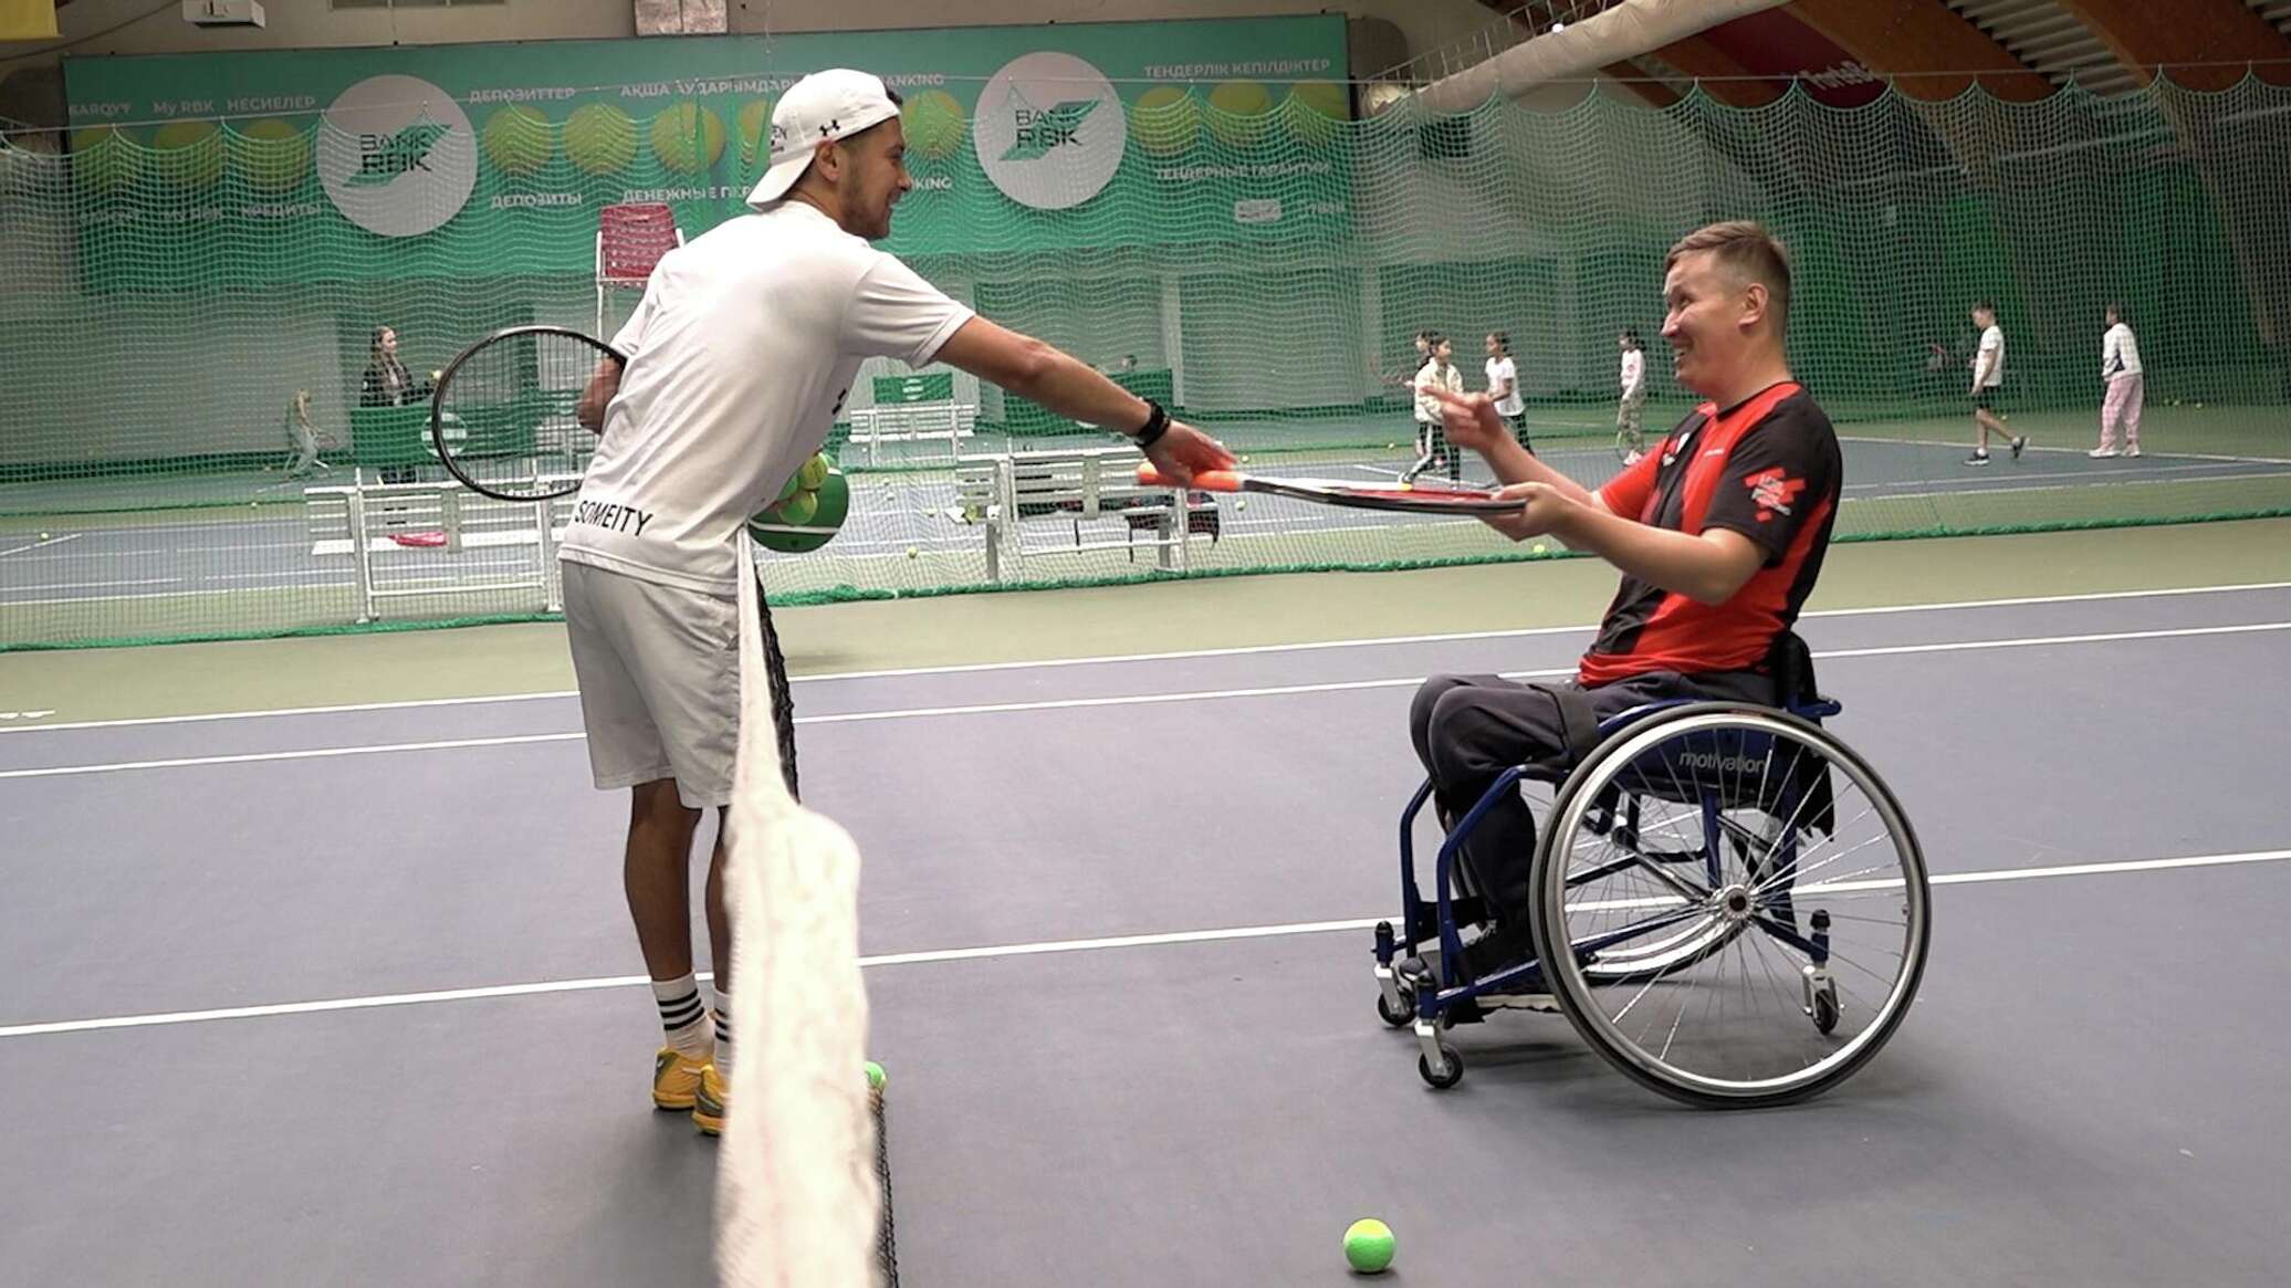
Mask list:
[[[532,591],[534,607],[564,607],[557,575],[557,541],[573,520],[575,497],[502,502],[454,481],[442,484],[348,484],[302,488],[309,518],[312,559],[351,559],[357,571],[357,621],[376,621],[380,600],[415,596]],[[403,541],[435,534],[435,545]],[[467,578],[378,578],[376,555],[460,555],[463,550],[534,548],[534,559],[515,573],[483,568]],[[454,568],[447,568],[454,573]]]

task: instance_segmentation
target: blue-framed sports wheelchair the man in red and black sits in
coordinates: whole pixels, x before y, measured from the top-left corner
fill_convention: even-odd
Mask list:
[[[1375,930],[1377,1015],[1414,1029],[1427,1084],[1464,1077],[1446,1034],[1498,1008],[1562,1013],[1631,1079],[1709,1109],[1819,1095],[1899,1029],[1931,933],[1924,855],[1876,770],[1821,727],[1842,706],[1805,644],[1782,635],[1769,665],[1780,708],[1654,701],[1505,770],[1448,827],[1430,898],[1416,816],[1432,782],[1416,788],[1402,926]],[[1489,903],[1459,855],[1503,793],[1537,816],[1535,949],[1473,974],[1464,930]]]

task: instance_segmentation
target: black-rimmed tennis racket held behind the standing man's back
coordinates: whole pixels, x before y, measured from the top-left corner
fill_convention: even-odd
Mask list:
[[[568,497],[596,454],[575,417],[609,344],[561,325],[513,325],[460,351],[431,392],[431,451],[474,493]]]

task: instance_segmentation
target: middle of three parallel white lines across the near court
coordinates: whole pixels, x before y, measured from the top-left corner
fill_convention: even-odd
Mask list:
[[[2172,630],[2105,630],[2092,635],[2028,635],[2021,639],[1950,639],[1940,644],[1881,644],[1874,649],[1831,649],[1814,653],[1817,660],[1837,658],[1899,658],[1908,653],[1961,653],[1975,649],[2041,649],[2055,644],[2112,644],[2124,639],[2188,639],[2199,635],[2252,635],[2264,630],[2291,630],[2291,621],[2254,621],[2243,626],[2181,626]],[[1526,678],[1558,678],[1576,674],[1574,667],[1553,667],[1540,672],[1498,672],[1510,681]],[[836,715],[797,715],[795,724],[868,724],[877,720],[928,720],[942,715],[1008,715],[1022,710],[1086,710],[1104,706],[1164,706],[1173,701],[1228,701],[1242,697],[1292,697],[1308,692],[1356,692],[1356,690],[1379,690],[1379,688],[1407,688],[1423,683],[1423,676],[1388,676],[1375,681],[1329,681],[1310,685],[1258,685],[1258,688],[1235,688],[1235,690],[1182,690],[1182,692],[1148,692],[1148,694],[1109,694],[1109,697],[1061,697],[1061,699],[1036,699],[1036,701],[985,701],[969,706],[907,706],[893,710],[845,710]],[[78,775],[108,775],[124,770],[181,770],[195,765],[250,765],[266,761],[318,761],[334,756],[380,756],[392,752],[444,752],[460,747],[520,747],[532,743],[573,743],[580,740],[580,731],[570,733],[515,733],[504,738],[444,738],[433,743],[378,743],[362,747],[309,747],[300,752],[243,752],[229,756],[179,756],[165,761],[115,761],[101,765],[46,765],[32,770],[0,770],[0,779],[50,779],[50,777],[78,777]]]

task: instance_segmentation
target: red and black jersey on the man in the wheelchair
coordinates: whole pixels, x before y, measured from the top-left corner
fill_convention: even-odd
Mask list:
[[[1814,589],[1842,486],[1837,431],[1796,383],[1727,410],[1695,408],[1661,449],[1599,488],[1599,500],[1613,513],[1691,536],[1741,532],[1766,564],[1716,607],[1624,578],[1583,655],[1583,685],[1759,667]]]

